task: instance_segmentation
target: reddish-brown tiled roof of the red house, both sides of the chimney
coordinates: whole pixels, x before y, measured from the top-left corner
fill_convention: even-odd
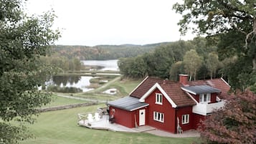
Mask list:
[[[174,101],[178,107],[195,105],[196,102],[191,99],[186,93],[181,90],[183,86],[180,82],[172,82],[170,80],[163,80],[156,77],[146,77],[143,82],[141,82],[138,87],[136,87],[130,96],[141,98],[146,92],[148,92],[153,85],[158,83],[161,88],[166,92],[166,94]],[[220,97],[227,96],[229,92],[229,85],[227,82],[224,82],[221,78],[213,80],[196,80],[189,82],[189,85],[209,85],[211,87],[217,88],[222,91]]]

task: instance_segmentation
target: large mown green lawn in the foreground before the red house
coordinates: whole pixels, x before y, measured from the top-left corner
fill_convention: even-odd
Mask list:
[[[107,130],[92,130],[77,126],[77,113],[95,112],[93,105],[77,107],[69,110],[43,112],[37,118],[37,123],[29,125],[29,130],[36,138],[24,140],[23,144],[100,144],[100,143],[192,143],[197,138],[167,138],[148,133],[122,133]]]

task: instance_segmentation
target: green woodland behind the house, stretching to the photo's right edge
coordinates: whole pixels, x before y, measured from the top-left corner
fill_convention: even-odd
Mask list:
[[[251,75],[250,59],[232,55],[231,51],[220,54],[222,50],[213,37],[196,37],[161,44],[137,57],[120,58],[118,67],[125,77],[132,78],[154,76],[178,80],[179,74],[188,74],[189,80],[223,77],[229,85],[240,90],[253,85],[255,77]]]

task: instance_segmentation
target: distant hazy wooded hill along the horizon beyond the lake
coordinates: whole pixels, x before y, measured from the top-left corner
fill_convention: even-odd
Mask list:
[[[74,57],[87,60],[87,59],[119,59],[121,57],[136,57],[139,54],[151,52],[161,44],[168,44],[171,42],[162,42],[157,44],[122,44],[122,45],[98,45],[94,47],[88,46],[69,46],[57,45],[52,48],[52,52],[62,57],[72,59]],[[51,52],[51,53],[52,53]]]

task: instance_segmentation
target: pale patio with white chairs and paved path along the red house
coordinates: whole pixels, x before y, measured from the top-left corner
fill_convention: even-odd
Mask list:
[[[199,137],[200,134],[196,130],[184,131],[181,134],[169,133],[163,130],[157,130],[151,126],[145,125],[138,128],[127,128],[123,125],[118,125],[116,123],[109,123],[108,115],[103,115],[100,120],[80,120],[78,125],[85,126],[86,128],[98,129],[98,130],[111,130],[120,131],[128,133],[151,133],[153,135],[163,136],[163,137],[173,137],[173,138],[188,138],[188,137]]]

